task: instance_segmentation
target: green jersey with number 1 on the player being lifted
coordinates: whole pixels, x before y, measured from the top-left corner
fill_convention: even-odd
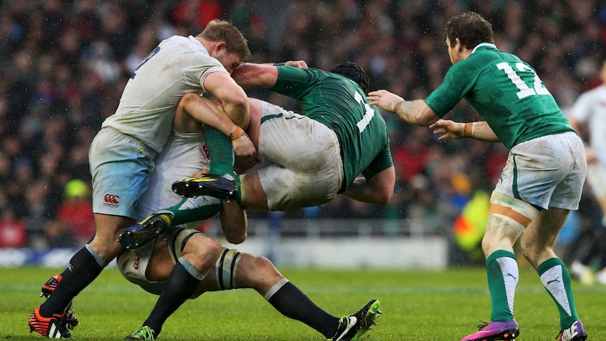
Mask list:
[[[303,115],[335,131],[343,159],[342,190],[361,173],[370,179],[394,165],[385,120],[351,79],[314,68],[280,66],[270,90],[297,99]]]

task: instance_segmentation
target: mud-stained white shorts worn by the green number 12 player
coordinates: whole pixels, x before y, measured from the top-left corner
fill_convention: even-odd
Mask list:
[[[511,148],[494,191],[548,210],[577,210],[587,173],[574,132],[542,136]]]

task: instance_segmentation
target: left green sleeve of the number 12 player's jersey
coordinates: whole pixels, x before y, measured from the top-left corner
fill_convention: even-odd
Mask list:
[[[446,72],[444,82],[425,99],[427,106],[440,118],[452,110],[475,84],[476,72],[464,62],[453,65]]]

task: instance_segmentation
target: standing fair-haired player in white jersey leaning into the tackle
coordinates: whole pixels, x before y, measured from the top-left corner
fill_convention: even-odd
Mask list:
[[[249,58],[247,41],[238,29],[229,22],[213,20],[197,37],[174,36],[161,41],[143,60],[129,79],[115,114],[103,122],[91,145],[96,234],[55,281],[46,283],[52,295],[31,314],[30,331],[43,337],[71,337],[67,327],[75,326],[77,320],[65,309],[122,251],[117,237],[141,215],[141,195],[153,172],[153,159],[172,131],[179,101],[196,120],[221,131],[218,137],[223,140],[217,144],[231,145],[227,136],[237,136],[233,153],[254,157],[252,142],[240,133],[250,120],[247,97],[230,77]],[[200,110],[198,95],[205,92],[221,100],[224,112],[212,116],[214,112]],[[231,176],[229,171],[226,169],[226,175]],[[220,250],[210,248],[209,252],[216,253],[209,258],[216,259]],[[188,264],[179,264],[176,268],[181,266],[187,272]]]

